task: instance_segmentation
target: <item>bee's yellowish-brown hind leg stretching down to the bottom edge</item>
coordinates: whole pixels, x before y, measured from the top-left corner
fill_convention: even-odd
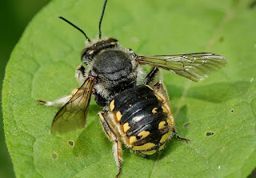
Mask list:
[[[118,174],[115,176],[118,178],[118,176],[121,175],[122,168],[121,168],[121,162],[122,162],[122,142],[119,139],[118,133],[111,127],[108,118],[107,118],[107,111],[99,111],[98,116],[101,120],[102,127],[104,132],[106,133],[106,136],[114,143],[113,144],[113,150],[114,150],[114,160],[118,166]]]

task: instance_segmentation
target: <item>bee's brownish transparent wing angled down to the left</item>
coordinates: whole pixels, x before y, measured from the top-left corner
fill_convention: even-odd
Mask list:
[[[86,125],[86,115],[95,79],[86,78],[82,86],[72,95],[70,101],[56,113],[51,124],[51,133],[68,133]]]

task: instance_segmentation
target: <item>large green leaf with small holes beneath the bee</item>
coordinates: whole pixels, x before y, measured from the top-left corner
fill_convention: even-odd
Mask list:
[[[112,146],[94,101],[86,129],[52,136],[58,109],[38,105],[78,87],[85,38],[58,15],[98,34],[103,1],[54,0],[26,28],[6,67],[2,106],[17,177],[114,177]],[[136,53],[220,53],[225,69],[201,83],[163,72],[180,136],[161,155],[123,146],[122,177],[246,177],[256,167],[256,10],[250,1],[109,1],[103,35]],[[207,133],[210,134],[210,136]]]

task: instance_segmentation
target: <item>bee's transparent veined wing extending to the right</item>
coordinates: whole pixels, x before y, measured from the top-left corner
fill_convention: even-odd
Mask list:
[[[227,59],[216,53],[186,53],[178,55],[138,56],[140,65],[167,69],[192,81],[202,81],[210,73],[222,69]]]

